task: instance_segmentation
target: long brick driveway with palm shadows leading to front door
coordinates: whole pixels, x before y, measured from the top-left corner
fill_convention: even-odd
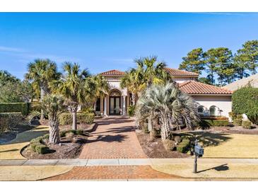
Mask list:
[[[122,117],[96,120],[79,159],[143,159],[146,158],[136,137],[134,120]]]

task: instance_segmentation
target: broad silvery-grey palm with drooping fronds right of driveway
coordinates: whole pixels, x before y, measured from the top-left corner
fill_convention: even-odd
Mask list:
[[[161,138],[168,139],[170,126],[184,123],[189,130],[197,124],[197,104],[186,93],[182,93],[174,83],[152,85],[140,96],[136,115],[139,122],[150,115],[161,122]]]

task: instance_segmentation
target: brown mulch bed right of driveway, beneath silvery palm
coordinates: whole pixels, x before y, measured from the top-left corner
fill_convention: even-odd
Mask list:
[[[155,138],[150,141],[149,135],[144,132],[136,132],[143,152],[148,158],[188,158],[188,154],[172,152],[165,149],[161,138]]]

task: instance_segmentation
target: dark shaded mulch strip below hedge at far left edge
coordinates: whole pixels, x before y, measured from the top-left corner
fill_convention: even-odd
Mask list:
[[[8,130],[6,132],[0,132],[0,144],[4,144],[9,142],[13,139],[16,139],[16,135],[20,132],[25,132],[28,130],[33,129],[30,125],[18,125],[17,127],[13,128],[13,130]]]

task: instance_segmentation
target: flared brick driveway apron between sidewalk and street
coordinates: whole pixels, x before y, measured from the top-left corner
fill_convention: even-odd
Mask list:
[[[45,181],[93,179],[168,179],[181,178],[151,169],[151,166],[86,166],[45,179]]]

